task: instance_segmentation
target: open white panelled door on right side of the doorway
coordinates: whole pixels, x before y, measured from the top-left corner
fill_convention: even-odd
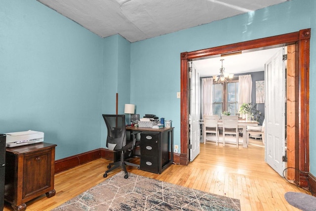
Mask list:
[[[285,64],[284,48],[265,65],[266,79],[266,162],[283,176],[285,163]]]

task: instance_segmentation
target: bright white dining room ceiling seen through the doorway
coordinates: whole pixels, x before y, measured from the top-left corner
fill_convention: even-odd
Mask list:
[[[224,59],[223,67],[225,68],[225,73],[237,74],[264,71],[265,63],[280,49],[281,47],[260,49],[222,57],[217,55],[213,58],[193,61],[193,65],[199,72],[200,77],[219,75],[219,69],[222,66],[221,59]]]

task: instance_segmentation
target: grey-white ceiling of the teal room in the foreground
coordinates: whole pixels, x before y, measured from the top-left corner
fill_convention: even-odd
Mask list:
[[[38,0],[84,28],[145,40],[287,0]]]

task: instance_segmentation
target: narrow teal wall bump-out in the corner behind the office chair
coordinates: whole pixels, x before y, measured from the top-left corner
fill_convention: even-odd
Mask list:
[[[103,39],[102,114],[116,113],[116,93],[118,114],[124,114],[124,104],[130,103],[130,42],[120,35]],[[102,119],[101,147],[105,146],[106,133]]]

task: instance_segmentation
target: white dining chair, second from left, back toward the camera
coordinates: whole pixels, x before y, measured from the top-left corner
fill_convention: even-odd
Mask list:
[[[239,132],[238,132],[238,116],[222,116],[223,120],[223,146],[225,146],[225,135],[236,135],[236,145],[239,147]]]

